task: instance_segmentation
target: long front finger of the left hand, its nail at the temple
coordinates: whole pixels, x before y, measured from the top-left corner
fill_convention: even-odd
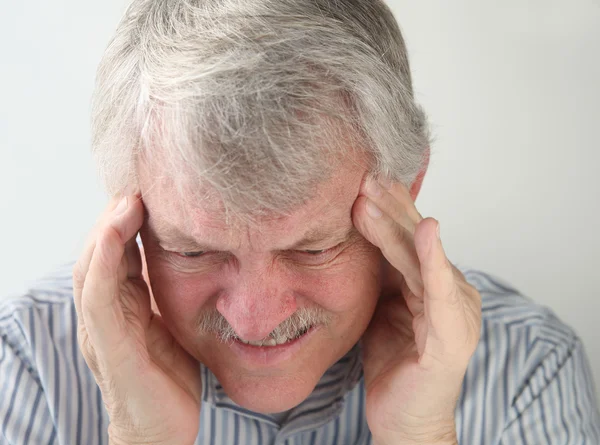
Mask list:
[[[126,199],[126,209],[112,214],[100,230],[82,292],[82,313],[96,350],[110,352],[127,334],[121,307],[121,287],[128,280],[125,244],[142,225],[143,206],[137,197]]]

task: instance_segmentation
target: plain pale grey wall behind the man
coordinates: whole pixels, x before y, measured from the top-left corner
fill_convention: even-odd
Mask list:
[[[106,202],[89,99],[125,5],[2,7],[2,297],[74,259]],[[504,278],[573,326],[600,382],[600,2],[390,5],[436,137],[417,207],[440,220],[451,260]]]

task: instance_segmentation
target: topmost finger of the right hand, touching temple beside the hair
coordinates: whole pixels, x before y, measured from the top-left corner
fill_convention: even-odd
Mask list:
[[[361,192],[398,224],[414,234],[417,224],[423,217],[417,211],[408,191],[405,192],[406,187],[400,183],[386,184],[386,187],[388,188],[384,188],[374,178],[367,178]]]

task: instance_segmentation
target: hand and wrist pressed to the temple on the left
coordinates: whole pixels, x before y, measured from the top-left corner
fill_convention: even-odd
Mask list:
[[[102,392],[111,444],[193,444],[200,371],[152,312],[135,240],[143,218],[138,196],[111,202],[73,268],[79,347]]]

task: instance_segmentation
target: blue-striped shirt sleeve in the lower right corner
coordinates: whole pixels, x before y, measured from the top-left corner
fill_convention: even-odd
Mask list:
[[[579,339],[557,344],[514,397],[501,445],[600,444],[591,369]]]

